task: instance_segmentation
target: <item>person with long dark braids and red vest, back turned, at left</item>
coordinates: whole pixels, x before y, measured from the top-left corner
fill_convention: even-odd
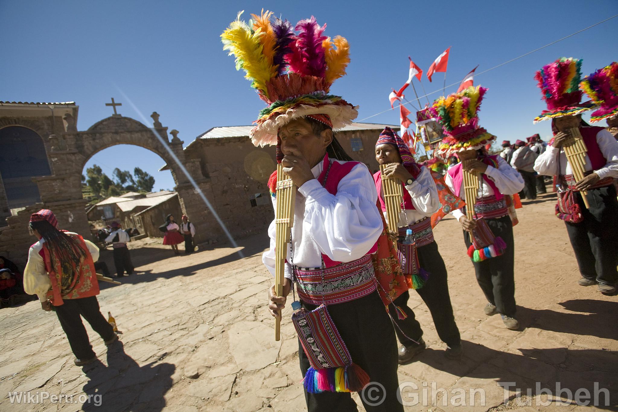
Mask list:
[[[38,295],[44,311],[56,311],[75,354],[74,362],[83,366],[95,361],[96,354],[80,315],[106,345],[118,338],[96,300],[99,284],[94,261],[99,258],[99,249],[77,233],[58,230],[57,226],[56,216],[48,209],[30,217],[30,229],[39,240],[30,247],[23,286],[27,293]]]

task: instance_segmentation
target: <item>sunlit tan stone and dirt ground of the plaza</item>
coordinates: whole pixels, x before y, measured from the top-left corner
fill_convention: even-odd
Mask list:
[[[428,348],[399,367],[400,383],[408,382],[404,400],[417,400],[406,411],[579,411],[594,407],[560,406],[559,398],[573,398],[580,389],[580,403],[586,390],[593,402],[595,388],[600,393],[595,409],[616,410],[617,296],[577,285],[575,258],[564,223],[554,217],[554,204],[554,195],[543,195],[518,210],[520,330],[508,330],[499,316],[483,314],[486,301],[459,224],[447,219],[436,227],[464,358],[444,358],[445,345],[428,309],[412,292],[410,307]],[[100,361],[85,368],[73,364],[54,313],[42,311],[37,301],[2,309],[0,410],[305,410],[294,328],[286,317],[281,342],[275,342],[274,322],[266,312],[271,277],[260,256],[268,245],[266,234],[239,243],[237,249],[221,245],[190,256],[174,256],[160,239],[132,243],[138,274],[123,278],[122,285],[101,284],[98,296],[101,311],[116,317],[122,343],[108,350],[87,324]],[[113,271],[111,251],[102,258]],[[556,395],[557,382],[558,400],[548,399],[541,389]],[[505,392],[501,385],[510,388]],[[31,398],[17,403],[9,392],[29,392]],[[604,393],[611,397],[609,406]],[[53,403],[52,395],[64,398]],[[465,406],[455,406],[462,400]]]

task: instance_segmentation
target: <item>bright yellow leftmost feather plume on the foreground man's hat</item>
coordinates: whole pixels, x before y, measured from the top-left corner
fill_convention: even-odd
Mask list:
[[[240,20],[241,14],[221,34],[223,49],[229,52],[229,56],[234,55],[236,70],[245,70],[245,78],[252,80],[252,87],[268,98],[266,83],[276,75],[276,70],[263,54],[260,29],[253,32],[247,23]]]

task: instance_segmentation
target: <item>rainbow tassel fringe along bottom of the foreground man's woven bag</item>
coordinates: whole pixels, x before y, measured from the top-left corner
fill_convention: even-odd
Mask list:
[[[360,392],[369,382],[367,372],[355,363],[319,371],[310,367],[303,379],[308,393]]]

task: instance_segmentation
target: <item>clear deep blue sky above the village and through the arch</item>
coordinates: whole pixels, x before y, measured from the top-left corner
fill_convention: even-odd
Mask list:
[[[353,6],[352,6],[353,4]],[[407,79],[407,56],[423,70],[451,46],[447,84],[475,65],[477,72],[520,56],[618,14],[618,2],[572,1],[0,1],[4,62],[0,99],[75,101],[78,129],[112,114],[113,96],[123,116],[139,119],[122,90],[150,121],[151,112],[188,145],[214,126],[245,125],[263,103],[234,61],[222,51],[219,34],[245,10],[261,7],[292,22],[315,15],[326,34],[350,42],[348,75],[332,87],[360,105],[358,119],[389,108],[391,88]],[[556,2],[557,4],[557,2]],[[213,6],[214,5],[214,6]],[[549,135],[548,122],[532,124],[543,110],[533,75],[557,57],[583,58],[583,74],[616,59],[618,18],[475,78],[489,88],[480,120],[499,140],[533,133]],[[614,50],[614,53],[611,51]],[[427,92],[441,90],[443,75]],[[417,90],[418,83],[415,80]],[[455,91],[456,86],[447,89]],[[407,98],[413,96],[411,88]],[[430,99],[438,97],[433,94]],[[422,103],[425,103],[423,101]],[[399,122],[396,111],[368,122]],[[150,124],[149,124],[150,126]],[[142,167],[155,176],[155,190],[172,188],[163,161],[137,146],[115,146],[88,161],[111,174],[114,167]]]

